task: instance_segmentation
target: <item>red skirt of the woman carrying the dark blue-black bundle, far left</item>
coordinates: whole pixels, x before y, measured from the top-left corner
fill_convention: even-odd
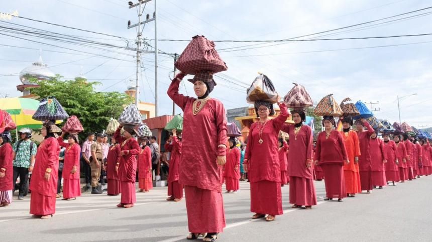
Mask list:
[[[36,191],[32,191],[30,196],[30,213],[38,216],[45,216],[55,213],[55,194],[45,196]]]

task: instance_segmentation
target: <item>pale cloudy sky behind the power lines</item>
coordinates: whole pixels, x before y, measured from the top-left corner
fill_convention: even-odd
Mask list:
[[[136,30],[128,30],[127,22],[131,20],[132,24],[135,24],[138,17],[136,9],[128,8],[128,1],[0,1],[0,12],[3,13],[18,11],[21,17],[119,36],[123,39],[19,18],[3,20],[0,26],[24,28],[13,25],[19,24],[104,44],[124,47],[129,43],[130,47],[135,47]],[[430,1],[426,0],[157,0],[157,36],[160,40],[190,40],[195,35],[203,35],[213,41],[282,40],[431,6]],[[154,7],[153,0],[146,5],[144,15],[152,16]],[[431,11],[432,9],[424,10],[369,25],[297,39],[429,34],[432,33]],[[419,16],[412,17],[414,15]],[[408,16],[412,18],[405,18]],[[396,19],[400,20],[393,21]],[[152,47],[155,45],[154,22],[145,26],[143,37]],[[165,53],[181,54],[187,44],[188,42],[158,41],[158,49]],[[322,97],[331,93],[338,102],[346,97],[365,103],[378,102],[373,105],[374,109],[379,109],[374,112],[375,116],[379,119],[388,119],[390,122],[399,120],[399,96],[402,97],[399,99],[402,122],[405,121],[417,128],[432,127],[432,36],[259,43],[260,45],[248,42],[215,44],[220,56],[228,65],[228,71],[215,77],[218,86],[211,96],[224,102],[226,109],[249,105],[246,103],[246,88],[257,73],[262,72],[272,80],[281,96],[293,87],[292,83],[298,83],[306,88],[314,102],[319,102]],[[239,46],[247,47],[227,50]],[[152,47],[148,47],[148,50],[152,51]],[[16,89],[20,84],[17,75],[39,59],[39,49],[42,49],[42,58],[50,66],[49,69],[63,76],[65,80],[78,76],[82,66],[84,76],[89,81],[101,82],[101,85],[96,87],[97,91],[123,92],[131,85],[129,80],[133,80],[132,85],[135,85],[133,51],[111,47],[95,49],[11,34],[0,29],[1,97],[20,96]],[[153,103],[154,54],[144,54],[142,57],[143,68],[139,77],[140,100]],[[172,101],[166,95],[166,90],[170,78],[173,77],[173,62],[173,58],[168,55],[158,56],[159,115],[172,112]],[[194,96],[193,87],[187,81],[182,84],[180,92]],[[411,94],[416,95],[410,96]],[[181,113],[178,107],[176,113]]]

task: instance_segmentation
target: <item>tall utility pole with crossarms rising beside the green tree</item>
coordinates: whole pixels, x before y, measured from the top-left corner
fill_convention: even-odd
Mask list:
[[[150,1],[152,1],[152,0],[138,0],[137,4],[134,4],[132,2],[128,3],[129,4],[129,9],[138,7],[138,23],[134,24],[134,25],[131,25],[131,21],[128,21],[128,29],[137,27],[137,56],[136,56],[136,58],[137,58],[137,72],[136,72],[136,78],[135,78],[136,79],[136,85],[135,85],[135,88],[136,88],[135,104],[136,105],[138,105],[138,103],[139,103],[139,96],[140,96],[139,89],[138,89],[139,88],[138,84],[139,84],[139,72],[140,72],[140,64],[141,64],[141,50],[140,50],[140,48],[141,48],[141,35],[143,33],[145,24],[147,24],[148,22],[151,22],[151,21],[154,20],[154,17],[153,17],[153,19],[150,19],[149,18],[150,16],[147,15],[146,21],[141,21],[141,16],[144,13],[144,9],[146,8],[147,3],[150,2]],[[144,4],[144,6],[142,6],[143,4]],[[141,25],[143,25],[143,28],[141,28]]]

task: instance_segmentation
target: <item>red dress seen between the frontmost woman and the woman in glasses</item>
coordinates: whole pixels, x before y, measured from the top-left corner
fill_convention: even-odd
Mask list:
[[[227,149],[224,178],[227,191],[240,189],[240,149],[237,147]]]

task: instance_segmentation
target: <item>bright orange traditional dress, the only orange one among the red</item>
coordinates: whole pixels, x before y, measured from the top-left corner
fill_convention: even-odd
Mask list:
[[[350,130],[349,132],[341,131],[344,137],[345,149],[347,150],[350,163],[344,163],[345,187],[347,193],[356,194],[362,192],[360,185],[359,163],[355,161],[355,157],[360,157],[360,144],[357,132]]]

